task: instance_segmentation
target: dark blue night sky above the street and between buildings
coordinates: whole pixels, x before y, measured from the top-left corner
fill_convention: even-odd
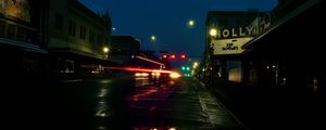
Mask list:
[[[277,0],[80,0],[95,12],[109,11],[113,35],[130,35],[145,42],[142,49],[186,52],[201,56],[204,22],[209,11],[268,11]],[[189,20],[195,26],[189,27]],[[150,37],[156,36],[156,41]]]

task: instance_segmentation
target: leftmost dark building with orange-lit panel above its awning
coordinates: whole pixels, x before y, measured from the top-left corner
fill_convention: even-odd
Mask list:
[[[45,73],[45,4],[37,0],[0,1],[1,68],[9,79],[37,79]]]

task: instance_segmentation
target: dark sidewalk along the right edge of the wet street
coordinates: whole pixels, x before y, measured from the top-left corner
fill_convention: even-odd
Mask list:
[[[235,82],[215,82],[206,87],[250,130],[325,128],[319,102],[306,96],[279,95],[275,91]],[[325,119],[324,119],[325,120]]]

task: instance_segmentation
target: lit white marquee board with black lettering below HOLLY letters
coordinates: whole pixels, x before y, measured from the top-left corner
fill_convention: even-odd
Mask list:
[[[244,51],[241,47],[252,38],[253,37],[213,40],[214,55],[240,54]]]

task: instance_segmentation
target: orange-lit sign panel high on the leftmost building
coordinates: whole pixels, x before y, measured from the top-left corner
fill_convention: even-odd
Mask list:
[[[30,22],[27,0],[0,0],[0,13],[25,22]]]

